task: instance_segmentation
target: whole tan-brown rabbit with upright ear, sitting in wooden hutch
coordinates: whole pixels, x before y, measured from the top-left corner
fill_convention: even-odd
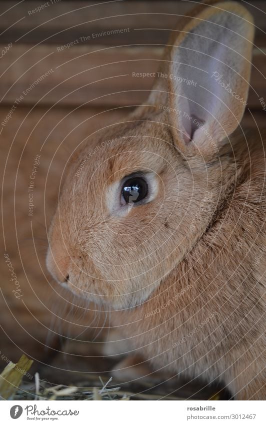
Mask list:
[[[264,150],[239,125],[252,40],[234,2],[180,21],[146,104],[73,157],[47,254],[155,369],[236,399],[265,397]]]

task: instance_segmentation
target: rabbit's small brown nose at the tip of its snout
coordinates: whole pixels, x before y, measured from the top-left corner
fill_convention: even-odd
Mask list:
[[[70,257],[68,255],[56,255],[48,249],[46,266],[52,277],[58,283],[67,283],[69,280]]]

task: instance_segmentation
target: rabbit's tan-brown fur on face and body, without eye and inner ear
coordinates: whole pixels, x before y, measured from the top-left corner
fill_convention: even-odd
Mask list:
[[[124,324],[132,350],[156,369],[223,381],[237,399],[263,399],[263,143],[233,132],[229,115],[230,143],[217,134],[218,155],[184,143],[174,115],[158,108],[173,105],[165,84],[158,81],[125,123],[94,135],[93,154],[88,141],[74,155],[47,265],[75,294],[121,310],[113,325]],[[237,90],[246,98],[246,85]],[[240,119],[243,111],[234,112]],[[124,216],[110,213],[112,185],[146,169],[157,176],[155,199]]]

